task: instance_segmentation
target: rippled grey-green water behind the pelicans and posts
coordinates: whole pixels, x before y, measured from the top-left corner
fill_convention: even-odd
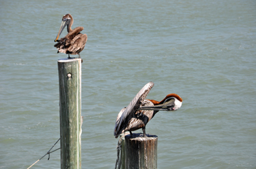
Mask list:
[[[255,1],[0,3],[0,168],[29,167],[59,138],[57,60],[67,56],[53,41],[67,13],[88,35],[83,168],[114,168],[117,113],[149,81],[147,98],[184,100],[147,124],[158,168],[256,168]],[[59,167],[59,151],[33,166]]]

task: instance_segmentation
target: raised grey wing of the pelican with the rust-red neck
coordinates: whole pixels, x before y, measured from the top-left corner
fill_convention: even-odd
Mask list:
[[[153,82],[147,83],[132,99],[128,107],[126,107],[126,109],[124,110],[122,109],[122,111],[119,112],[119,114],[117,115],[117,121],[115,121],[115,130],[114,130],[115,138],[117,138],[119,134],[122,133],[122,130],[124,130],[124,128],[128,124],[130,117],[134,113],[136,113],[137,109],[141,105],[141,101],[145,100],[147,94],[150,92],[153,86],[154,86]]]

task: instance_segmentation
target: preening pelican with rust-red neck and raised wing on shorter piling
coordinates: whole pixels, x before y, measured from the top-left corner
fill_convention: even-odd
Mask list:
[[[122,109],[115,121],[114,136],[117,138],[119,134],[142,128],[143,137],[145,134],[145,126],[156,115],[158,111],[176,111],[182,106],[182,98],[177,94],[168,94],[162,101],[146,100],[147,94],[153,88],[154,83],[147,83],[139,93],[133,98],[128,107]]]

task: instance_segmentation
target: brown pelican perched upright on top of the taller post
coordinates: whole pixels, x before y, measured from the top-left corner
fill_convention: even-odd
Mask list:
[[[85,48],[85,43],[87,41],[87,35],[80,33],[83,31],[83,27],[79,26],[75,28],[74,30],[71,29],[71,26],[73,24],[73,18],[70,14],[66,14],[62,17],[61,27],[59,28],[59,33],[57,34],[57,37],[55,39],[54,47],[57,48],[58,52],[68,54],[68,58],[70,58],[70,54],[78,54],[80,57],[80,52]],[[59,39],[59,36],[61,35],[61,32],[63,29],[67,26],[68,35],[65,37]],[[59,39],[59,40],[58,40]]]

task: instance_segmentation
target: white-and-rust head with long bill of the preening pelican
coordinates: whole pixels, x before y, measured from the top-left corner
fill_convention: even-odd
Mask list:
[[[154,106],[141,106],[138,110],[177,111],[182,107],[182,98],[177,94],[168,94],[162,101],[150,100]]]

